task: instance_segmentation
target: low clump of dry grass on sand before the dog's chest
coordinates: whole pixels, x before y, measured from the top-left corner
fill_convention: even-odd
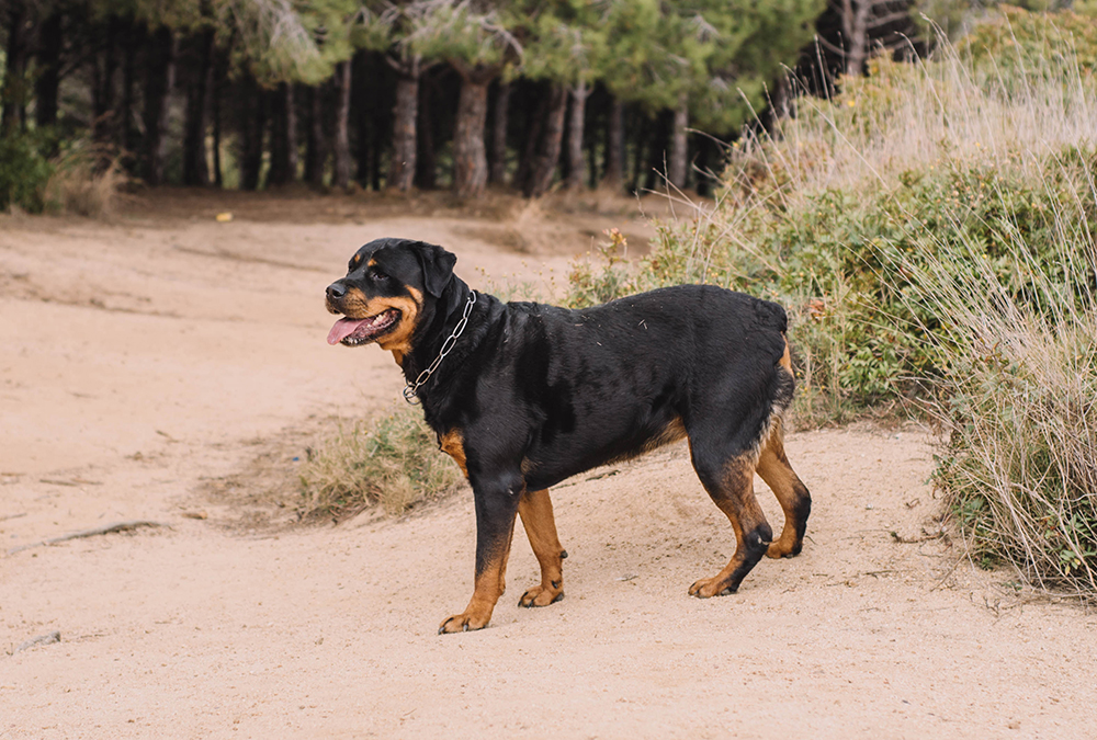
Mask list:
[[[422,411],[402,407],[328,439],[301,470],[305,508],[313,514],[352,513],[380,504],[399,514],[456,488],[461,473],[439,452]]]

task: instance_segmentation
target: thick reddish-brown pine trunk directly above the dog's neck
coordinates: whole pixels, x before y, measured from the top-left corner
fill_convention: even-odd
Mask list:
[[[487,185],[487,88],[498,75],[495,67],[456,65],[461,73],[461,95],[453,133],[453,187],[461,197],[476,197]]]

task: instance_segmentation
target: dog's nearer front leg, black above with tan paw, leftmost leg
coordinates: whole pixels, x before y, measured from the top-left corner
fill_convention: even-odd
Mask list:
[[[476,501],[476,581],[473,597],[464,612],[442,623],[438,628],[439,635],[483,629],[491,621],[495,604],[502,595],[502,579],[523,489],[521,476],[512,478],[487,485],[473,482]]]

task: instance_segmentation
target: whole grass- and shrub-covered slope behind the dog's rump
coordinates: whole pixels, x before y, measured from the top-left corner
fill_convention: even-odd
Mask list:
[[[1009,10],[801,99],[638,265],[578,269],[576,303],[680,282],[784,303],[798,421],[928,410],[935,481],[980,561],[1097,596],[1093,27]]]

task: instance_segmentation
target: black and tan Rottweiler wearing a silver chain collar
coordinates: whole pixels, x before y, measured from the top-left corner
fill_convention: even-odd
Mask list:
[[[440,633],[487,626],[504,592],[521,516],[541,563],[522,606],[564,595],[548,487],[612,460],[689,439],[693,468],[732,522],[727,566],[689,593],[733,593],[761,559],[803,545],[811,497],[784,455],[793,377],[784,310],[704,285],[664,288],[567,310],[504,304],[471,291],[441,247],[378,239],[327,288],[342,314],[331,344],[391,351],[439,446],[472,483],[476,581]],[[784,511],[776,542],[754,493],[761,476]]]

